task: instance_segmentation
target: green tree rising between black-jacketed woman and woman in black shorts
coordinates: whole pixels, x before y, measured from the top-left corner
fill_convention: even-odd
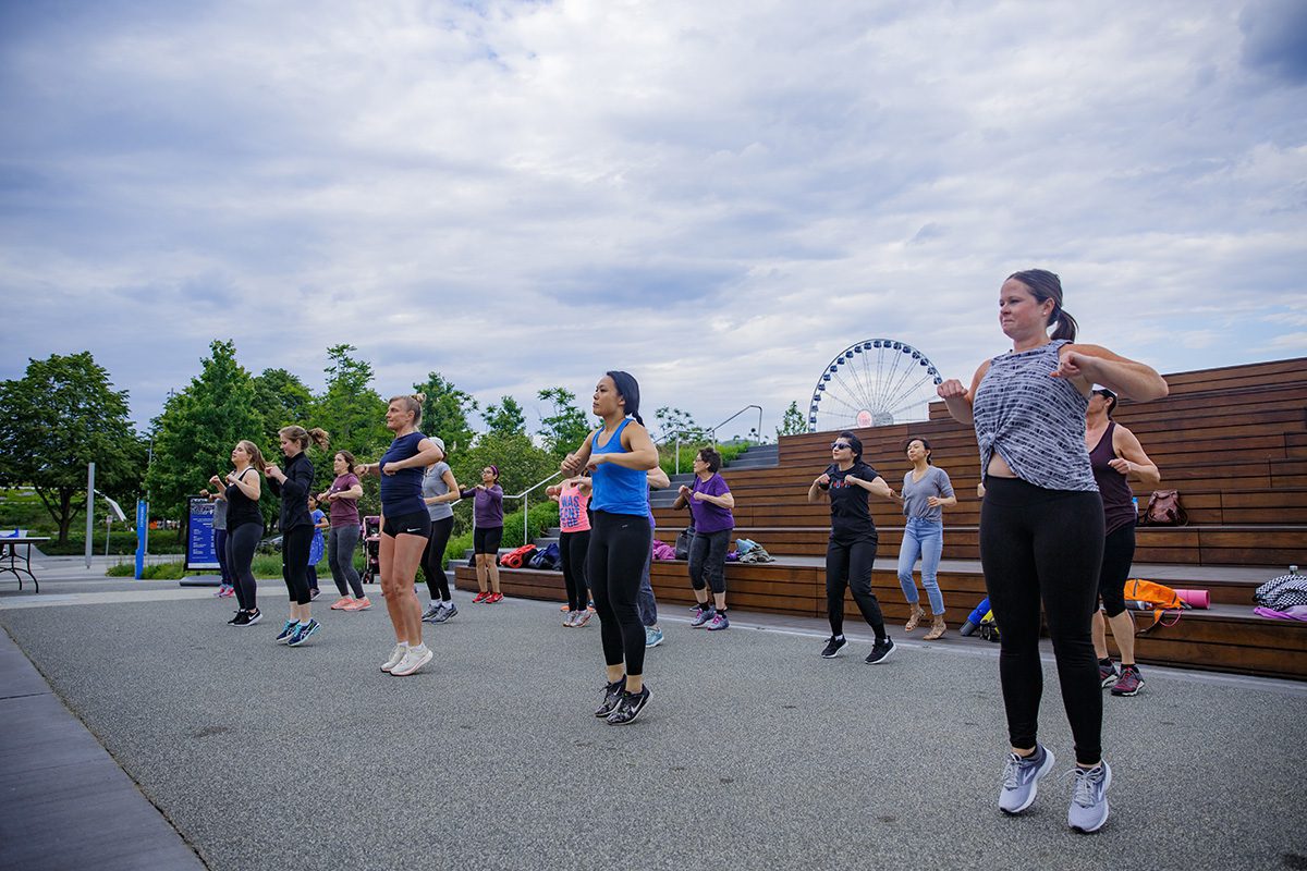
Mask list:
[[[391,434],[386,428],[386,400],[372,388],[372,364],[354,356],[357,350],[353,345],[327,349],[327,389],[314,402],[311,418],[314,426],[331,434],[333,451],[371,460],[386,451]]]

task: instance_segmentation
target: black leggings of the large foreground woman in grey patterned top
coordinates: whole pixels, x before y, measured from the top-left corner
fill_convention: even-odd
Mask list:
[[[985,481],[980,564],[999,624],[999,675],[1012,746],[1035,746],[1044,671],[1039,603],[1057,659],[1076,761],[1102,756],[1103,691],[1090,635],[1103,558],[1103,500],[1097,491],[1044,490],[1025,481]]]

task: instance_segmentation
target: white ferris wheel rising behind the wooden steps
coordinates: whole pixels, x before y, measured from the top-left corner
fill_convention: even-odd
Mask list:
[[[808,406],[808,431],[882,427],[925,420],[944,379],[907,342],[869,338],[850,345],[822,371]]]

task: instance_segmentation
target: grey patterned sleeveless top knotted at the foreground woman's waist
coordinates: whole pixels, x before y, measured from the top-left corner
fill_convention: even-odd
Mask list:
[[[1056,340],[989,360],[971,413],[982,477],[997,451],[1014,475],[1036,487],[1098,490],[1085,447],[1089,397],[1068,379],[1051,377],[1067,343]]]

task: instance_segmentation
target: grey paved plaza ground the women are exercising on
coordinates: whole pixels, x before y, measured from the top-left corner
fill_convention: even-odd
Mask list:
[[[78,867],[200,867],[180,844],[216,870],[1307,868],[1299,683],[1146,669],[1138,697],[1104,691],[1112,817],[1080,836],[1070,778],[1043,781],[1019,819],[997,811],[997,648],[955,632],[891,632],[893,658],[868,666],[852,622],[850,653],[825,661],[818,620],[740,612],[707,633],[670,609],[652,700],[614,727],[592,716],[597,620],[566,629],[553,603],[456,594],[460,615],[427,631],[431,665],[391,678],[379,594],[328,611],[328,580],[323,631],[291,649],[273,642],[280,582],[238,629],[210,589],[44,569],[39,595],[0,585],[0,627],[39,670],[16,678],[24,656],[0,653],[0,759],[12,770],[30,730],[33,753],[76,742],[80,720],[154,806],[133,811],[141,849],[165,850]],[[1060,773],[1072,742],[1051,661],[1046,675]],[[56,735],[43,723],[60,717]],[[0,773],[0,867],[72,867],[39,862],[54,849],[30,863],[59,802],[63,846],[116,845],[64,789],[103,764],[93,743],[67,770]]]

